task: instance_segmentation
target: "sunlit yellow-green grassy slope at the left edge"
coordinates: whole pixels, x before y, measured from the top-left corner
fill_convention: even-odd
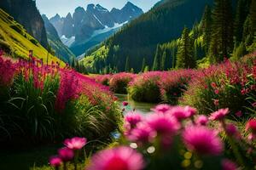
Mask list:
[[[0,48],[6,54],[14,58],[28,59],[29,50],[33,50],[33,55],[38,59],[47,61],[48,51],[31,35],[27,33],[23,26],[17,23],[12,16],[5,13],[0,8]],[[49,54],[49,62],[58,61],[64,63]]]

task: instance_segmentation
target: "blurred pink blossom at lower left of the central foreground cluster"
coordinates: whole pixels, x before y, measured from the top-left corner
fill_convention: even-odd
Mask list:
[[[151,142],[155,136],[156,134],[154,130],[152,130],[148,124],[142,122],[138,123],[137,127],[131,131],[129,139],[139,144],[147,144],[148,142]]]

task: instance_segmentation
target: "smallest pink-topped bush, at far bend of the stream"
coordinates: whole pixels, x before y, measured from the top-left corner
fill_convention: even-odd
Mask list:
[[[127,94],[128,84],[136,75],[132,73],[121,72],[114,74],[109,81],[109,88],[115,94]]]

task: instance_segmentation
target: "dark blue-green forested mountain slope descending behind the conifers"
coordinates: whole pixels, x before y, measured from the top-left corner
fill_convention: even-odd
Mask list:
[[[201,20],[205,6],[212,3],[213,0],[166,0],[155,5],[103,43],[109,49],[108,56],[103,63],[99,59],[94,67],[97,71],[107,67],[125,71],[127,61],[134,71],[141,71],[143,59],[146,65],[153,65],[157,44],[180,37],[184,26],[191,29]]]

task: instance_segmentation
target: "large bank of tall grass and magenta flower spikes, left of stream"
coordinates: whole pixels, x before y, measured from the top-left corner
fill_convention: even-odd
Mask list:
[[[121,113],[108,88],[58,64],[0,57],[1,143],[40,143],[69,135],[111,138]]]

